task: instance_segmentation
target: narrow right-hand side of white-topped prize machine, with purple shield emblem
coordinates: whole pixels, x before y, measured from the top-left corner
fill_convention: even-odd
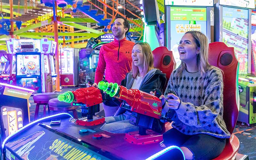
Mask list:
[[[56,90],[56,77],[54,67],[54,54],[56,52],[56,42],[48,41],[46,38],[41,39],[41,58],[42,63],[42,92],[54,92]]]

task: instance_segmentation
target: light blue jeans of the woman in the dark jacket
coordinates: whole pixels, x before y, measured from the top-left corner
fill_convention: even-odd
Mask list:
[[[131,113],[127,111],[122,115],[105,117],[106,123],[103,124],[100,129],[111,133],[128,133],[138,131],[139,127],[129,123],[130,117]]]

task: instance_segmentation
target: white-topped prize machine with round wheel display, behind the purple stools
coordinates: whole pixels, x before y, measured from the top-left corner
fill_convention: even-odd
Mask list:
[[[50,55],[56,45],[46,39],[15,39],[17,86],[35,90],[34,94],[52,92]],[[51,66],[52,65],[52,66]]]

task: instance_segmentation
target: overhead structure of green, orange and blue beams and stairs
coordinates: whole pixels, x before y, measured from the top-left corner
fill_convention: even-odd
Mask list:
[[[59,16],[59,43],[64,45],[74,44],[74,42],[81,44],[90,39],[90,36],[95,38],[104,34],[104,32],[111,32],[110,24],[116,16],[126,17],[130,21],[130,31],[134,36],[138,37],[137,40],[141,39],[143,35],[144,26],[140,0],[82,0],[81,5],[77,5],[76,12],[74,12],[75,2],[72,0],[65,1],[68,2],[68,6],[65,8],[58,7],[57,10],[57,15]],[[157,2],[161,17],[164,14],[164,0],[158,0]],[[3,19],[10,19],[9,0],[1,0],[0,3],[2,4],[0,4],[2,21]],[[38,0],[13,0],[13,11],[14,18],[12,20],[16,22],[14,23],[15,30],[13,34],[18,36],[16,38],[40,39],[44,36],[53,40],[52,7],[46,7]],[[92,12],[94,15],[91,14]],[[70,19],[71,16],[72,19]],[[98,20],[102,19],[99,22],[97,18]],[[16,29],[18,21],[22,21],[20,29]],[[104,26],[102,25],[103,23],[105,24]],[[7,30],[10,31],[9,28]],[[2,40],[3,38],[8,38],[8,36],[0,35],[0,50],[4,49],[4,46],[1,45],[5,44],[5,40]],[[65,43],[63,43],[64,39],[66,40]]]

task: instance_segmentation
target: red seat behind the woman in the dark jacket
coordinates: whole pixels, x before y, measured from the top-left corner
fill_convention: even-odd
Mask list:
[[[169,51],[166,47],[163,47],[163,46],[157,47],[152,52],[154,56],[154,67],[166,74],[167,81],[164,87],[164,91],[165,91],[165,88],[167,87],[171,73],[176,68],[176,62],[174,60],[172,51]],[[171,128],[172,128],[172,125],[170,122],[164,123],[162,133],[170,130]]]

